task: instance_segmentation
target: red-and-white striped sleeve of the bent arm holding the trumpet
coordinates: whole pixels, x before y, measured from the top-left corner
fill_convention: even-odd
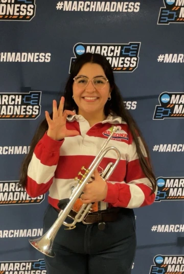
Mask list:
[[[143,154],[147,159],[146,151],[140,137],[139,142]],[[125,183],[120,184],[117,182],[115,184],[111,184],[110,182],[107,182],[108,190],[104,201],[111,203],[113,207],[130,209],[150,205],[155,200],[157,189],[155,193],[151,194],[152,185],[150,180],[142,171],[134,141],[128,145],[126,159],[127,166]]]

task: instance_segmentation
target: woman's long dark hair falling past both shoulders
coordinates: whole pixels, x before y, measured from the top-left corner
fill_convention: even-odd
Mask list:
[[[75,62],[72,65],[71,69],[71,74],[68,77],[68,80],[65,85],[64,89],[64,109],[68,110],[76,110],[76,113],[78,113],[78,106],[75,103],[75,101],[72,99],[73,96],[73,83],[74,83],[74,77],[79,73],[81,67],[85,63],[96,63],[102,66],[104,73],[109,80],[110,88],[111,88],[111,100],[107,100],[105,106],[104,106],[104,115],[108,116],[111,112],[116,113],[117,116],[122,117],[122,119],[128,124],[128,127],[130,129],[130,132],[133,136],[133,140],[136,145],[136,150],[139,155],[139,161],[142,167],[142,170],[145,174],[146,177],[149,178],[151,185],[152,185],[152,192],[154,193],[156,190],[156,178],[153,173],[152,165],[151,165],[151,159],[150,159],[150,153],[148,150],[148,146],[143,138],[143,135],[141,133],[141,130],[137,126],[136,122],[130,115],[129,111],[125,108],[123,98],[120,94],[120,90],[117,87],[116,83],[114,82],[114,76],[113,76],[113,71],[111,68],[110,63],[106,59],[106,57],[100,55],[100,54],[92,54],[92,53],[85,53],[79,56]],[[60,99],[59,99],[60,100]],[[59,100],[58,100],[58,106],[59,106]],[[118,102],[118,103],[117,103]],[[63,109],[63,110],[64,110]],[[50,117],[52,119],[53,112],[50,113]],[[25,189],[26,184],[27,184],[27,172],[28,172],[28,167],[29,163],[31,161],[33,151],[35,149],[36,144],[38,141],[42,138],[44,135],[45,131],[48,130],[48,123],[47,120],[44,119],[40,125],[38,126],[33,139],[30,144],[30,150],[27,156],[25,157],[24,161],[21,164],[20,167],[20,179],[19,179],[19,186]],[[146,153],[147,153],[147,159],[145,159],[139,139],[137,135],[140,136],[143,145],[145,147]]]

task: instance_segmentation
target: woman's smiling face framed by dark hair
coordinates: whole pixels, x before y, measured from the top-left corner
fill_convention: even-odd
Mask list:
[[[81,67],[76,77],[77,83],[74,82],[73,84],[73,96],[79,108],[78,114],[85,117],[86,114],[88,115],[90,113],[96,117],[102,117],[104,105],[108,97],[110,97],[110,85],[109,82],[106,81],[107,78],[102,66],[96,63],[86,63]],[[94,80],[96,87],[92,81],[89,81],[87,84],[87,79],[83,77],[89,80],[98,77],[98,79]],[[86,84],[87,86],[85,87]]]

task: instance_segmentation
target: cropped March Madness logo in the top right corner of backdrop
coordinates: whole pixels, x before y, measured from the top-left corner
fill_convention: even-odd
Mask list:
[[[160,8],[157,25],[184,23],[184,0],[164,0],[165,8]]]

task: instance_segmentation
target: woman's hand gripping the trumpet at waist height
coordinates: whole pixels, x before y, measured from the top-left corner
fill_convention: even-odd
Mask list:
[[[87,184],[80,196],[82,203],[103,201],[107,196],[107,183],[102,179],[98,170],[94,172],[95,180]]]

